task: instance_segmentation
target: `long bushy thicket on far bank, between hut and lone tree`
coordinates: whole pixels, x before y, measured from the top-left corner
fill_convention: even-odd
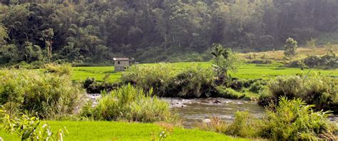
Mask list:
[[[210,69],[191,67],[175,71],[168,64],[132,67],[122,76],[122,82],[131,83],[163,97],[200,98],[215,93]]]

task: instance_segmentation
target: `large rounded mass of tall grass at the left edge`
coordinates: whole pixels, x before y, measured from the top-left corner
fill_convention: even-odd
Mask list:
[[[29,70],[0,73],[0,105],[9,115],[28,112],[53,118],[72,114],[83,94],[81,86],[72,83],[68,75]]]

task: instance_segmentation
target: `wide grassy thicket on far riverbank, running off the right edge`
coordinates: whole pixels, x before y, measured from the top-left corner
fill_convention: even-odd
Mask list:
[[[267,105],[278,98],[301,98],[317,110],[338,112],[338,80],[323,76],[302,77],[298,75],[279,76],[267,83],[267,90],[260,96],[260,104]]]

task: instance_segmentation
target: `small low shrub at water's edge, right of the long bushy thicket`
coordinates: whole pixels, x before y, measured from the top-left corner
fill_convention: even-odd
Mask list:
[[[218,86],[216,90],[217,96],[220,98],[241,99],[245,97],[245,94],[239,93],[232,88],[225,88],[224,86]]]

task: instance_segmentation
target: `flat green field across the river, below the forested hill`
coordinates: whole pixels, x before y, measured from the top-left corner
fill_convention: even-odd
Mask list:
[[[210,68],[210,62],[198,62],[198,63],[170,63],[178,71],[183,68],[188,68],[190,66],[199,66],[201,68]],[[158,65],[156,63],[150,64],[140,64],[141,66],[154,66]],[[268,65],[263,64],[249,64],[243,63],[240,65],[240,69],[237,73],[232,73],[234,77],[237,78],[274,78],[277,75],[295,75],[297,73],[307,74],[309,69],[301,71],[299,68],[286,68],[280,63],[272,63]],[[86,78],[96,78],[96,80],[103,80],[103,77],[106,74],[111,74],[109,81],[119,82],[120,77],[123,73],[114,72],[113,66],[102,66],[102,67],[74,67],[73,68],[73,80],[86,80]],[[322,75],[332,75],[338,76],[338,70],[317,70],[313,69],[310,71],[310,75],[322,74]]]

